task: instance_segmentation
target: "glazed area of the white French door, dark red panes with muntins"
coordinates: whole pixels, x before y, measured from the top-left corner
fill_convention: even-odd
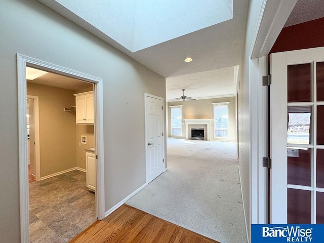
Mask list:
[[[323,223],[324,64],[289,65],[287,73],[287,223]]]

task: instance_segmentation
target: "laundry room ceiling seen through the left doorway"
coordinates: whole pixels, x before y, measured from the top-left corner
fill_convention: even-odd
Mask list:
[[[82,80],[50,72],[33,80],[27,80],[27,82],[74,91],[93,87],[92,84]]]

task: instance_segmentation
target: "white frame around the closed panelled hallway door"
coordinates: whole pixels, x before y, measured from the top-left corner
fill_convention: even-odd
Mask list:
[[[147,157],[147,146],[146,144],[148,143],[147,142],[147,119],[146,119],[146,115],[147,115],[147,97],[150,97],[150,98],[154,98],[154,99],[158,99],[158,100],[161,100],[162,101],[162,105],[163,105],[163,110],[162,110],[162,132],[163,132],[163,143],[162,143],[162,153],[163,153],[163,159],[164,159],[164,163],[163,163],[163,172],[165,172],[167,170],[166,168],[166,158],[165,158],[165,131],[164,131],[164,125],[165,125],[165,119],[164,119],[164,112],[165,112],[165,104],[164,104],[164,98],[162,97],[158,97],[158,96],[155,96],[155,95],[151,95],[151,94],[148,94],[148,93],[144,93],[144,109],[145,109],[145,112],[144,112],[144,116],[145,116],[145,178],[146,178],[146,184],[148,184],[148,168],[149,168],[149,160],[148,160],[148,157]],[[163,173],[162,172],[162,173]]]

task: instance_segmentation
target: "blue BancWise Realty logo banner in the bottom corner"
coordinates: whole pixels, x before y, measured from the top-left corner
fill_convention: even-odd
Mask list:
[[[324,224],[252,224],[251,243],[324,242]]]

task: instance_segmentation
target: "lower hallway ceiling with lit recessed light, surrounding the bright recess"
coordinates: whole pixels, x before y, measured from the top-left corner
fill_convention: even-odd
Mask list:
[[[245,23],[248,10],[248,0],[233,0],[233,18],[225,22],[214,24],[210,27],[200,29],[170,41],[160,43],[158,45],[137,51],[132,53],[121,44],[117,43],[111,37],[105,35],[102,31],[95,28],[91,23],[80,18],[72,11],[65,8],[59,2],[67,2],[67,0],[38,0],[45,5],[49,6],[56,12],[75,22],[76,24],[87,29],[91,33],[97,35],[103,41],[112,45],[116,49],[124,52],[130,57],[134,58],[138,62],[147,66],[151,70],[164,77],[173,77],[179,75],[185,75],[195,72],[209,71],[224,67],[231,67],[240,64],[242,46],[245,35]],[[82,5],[83,1],[73,1],[79,5]],[[89,1],[88,1],[89,2]],[[112,1],[91,1],[95,6],[95,3],[106,3],[109,7],[109,3]],[[123,2],[123,1],[114,1]],[[129,0],[128,3],[134,1]],[[145,1],[142,1],[145,2]],[[150,1],[147,1],[150,2]],[[160,1],[163,2],[164,1]],[[177,1],[173,1],[176,3]],[[181,1],[189,4],[197,1]],[[206,1],[210,3],[211,1]],[[227,2],[230,0],[218,1],[219,3]],[[200,2],[201,5],[205,4],[205,1]],[[127,12],[123,12],[123,9],[118,12],[120,15],[125,15]],[[92,8],[89,11],[93,11]],[[164,12],[168,11],[168,6],[164,8]],[[181,14],[181,13],[180,13]],[[93,16],[94,21],[98,18],[98,21],[104,21],[102,16]],[[125,16],[128,18],[128,16]],[[190,18],[190,16],[188,16]],[[125,27],[129,29],[129,27]],[[124,33],[124,34],[129,34]],[[193,61],[185,63],[183,60],[186,57],[192,57]]]

